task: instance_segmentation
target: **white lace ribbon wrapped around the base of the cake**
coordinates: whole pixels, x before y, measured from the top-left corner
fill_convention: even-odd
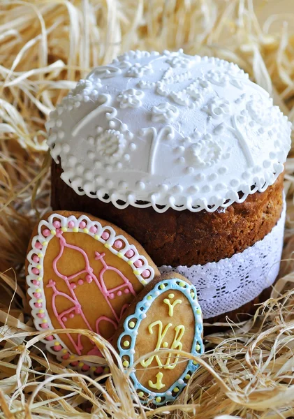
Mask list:
[[[242,307],[265,288],[279,273],[283,248],[286,203],[281,218],[263,240],[219,262],[191,267],[159,267],[161,273],[178,272],[196,286],[203,318],[218,316]]]

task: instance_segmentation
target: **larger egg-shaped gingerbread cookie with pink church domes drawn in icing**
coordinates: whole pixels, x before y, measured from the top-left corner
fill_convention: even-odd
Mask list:
[[[45,214],[34,229],[27,255],[27,293],[38,330],[87,329],[111,341],[120,318],[159,272],[140,244],[120,228],[77,212]],[[45,339],[57,359],[98,373],[75,360],[100,355],[82,335]]]

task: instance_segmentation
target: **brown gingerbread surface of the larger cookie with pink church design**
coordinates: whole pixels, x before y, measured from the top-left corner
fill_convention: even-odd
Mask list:
[[[47,220],[50,214],[54,213],[45,214],[43,219]],[[82,215],[66,211],[59,214],[64,217],[74,215],[76,219]],[[159,274],[147,253],[131,236],[111,223],[95,219],[89,214],[87,216],[91,221],[98,221],[101,226],[109,227],[106,227],[106,233],[110,233],[111,228],[115,230],[117,240],[125,237],[128,244],[133,245],[138,254],[146,258],[154,274]],[[41,230],[44,231],[45,228],[43,226]],[[40,313],[45,309],[53,328],[89,329],[98,332],[105,339],[110,339],[124,310],[144,288],[144,284],[135,275],[138,269],[131,261],[119,257],[117,252],[112,253],[105,244],[84,233],[87,228],[77,229],[75,232],[61,231],[61,228],[53,230],[54,237],[47,242],[43,269],[40,268],[38,277],[38,294],[41,294],[41,300],[45,297],[45,307],[41,307]],[[36,226],[32,237],[37,234]],[[119,250],[124,253],[124,240],[122,242],[123,247]],[[31,247],[30,243],[29,250]],[[28,265],[27,263],[27,268]],[[31,279],[34,280],[34,274]],[[143,279],[143,282],[147,284],[148,280]],[[33,297],[34,295],[36,293]],[[40,322],[43,318],[40,318]],[[36,323],[38,317],[35,319]],[[87,337],[78,334],[62,334],[59,337],[72,353],[95,354],[96,348]]]

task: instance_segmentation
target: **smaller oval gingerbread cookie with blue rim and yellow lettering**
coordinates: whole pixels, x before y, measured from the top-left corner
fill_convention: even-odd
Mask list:
[[[127,370],[143,355],[159,350],[140,360],[131,372],[143,403],[161,405],[179,395],[198,368],[195,360],[187,360],[180,351],[203,353],[202,335],[196,288],[181,275],[154,279],[135,298],[117,330],[117,351]]]

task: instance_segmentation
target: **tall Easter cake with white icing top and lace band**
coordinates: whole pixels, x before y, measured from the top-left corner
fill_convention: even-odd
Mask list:
[[[291,124],[236,64],[127,52],[80,80],[47,130],[53,210],[122,228],[162,273],[196,286],[205,320],[265,298],[279,272]]]

